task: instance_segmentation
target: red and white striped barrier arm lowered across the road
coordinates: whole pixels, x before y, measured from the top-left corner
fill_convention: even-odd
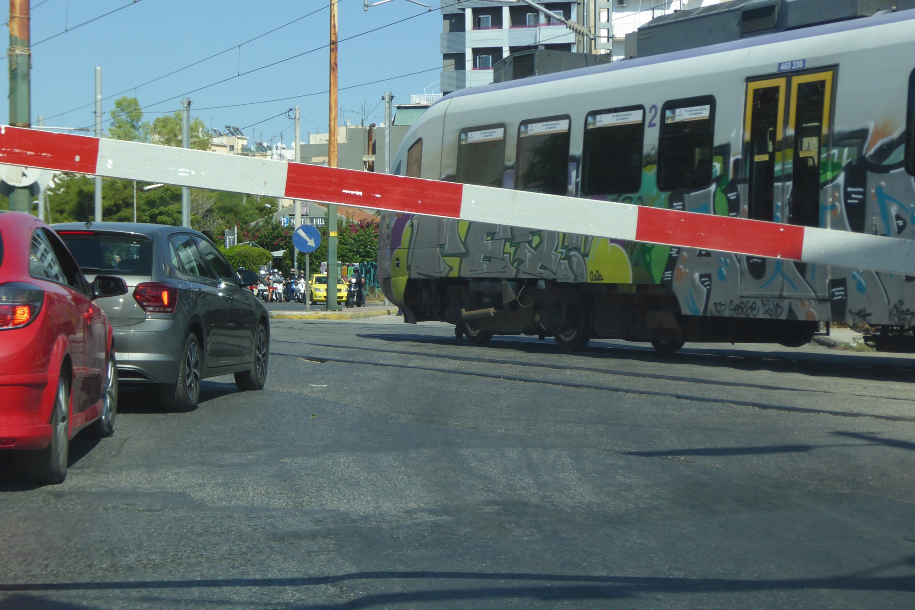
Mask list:
[[[0,126],[0,163],[915,276],[915,241]]]

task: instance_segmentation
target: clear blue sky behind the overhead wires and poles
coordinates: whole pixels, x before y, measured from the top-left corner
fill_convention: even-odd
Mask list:
[[[436,0],[425,2],[433,11],[407,0],[367,12],[362,4],[339,0],[339,110],[356,125],[363,115],[367,125],[381,124],[385,91],[394,103],[438,93],[441,15]],[[262,136],[279,142],[282,134],[288,146],[293,122],[286,111],[296,105],[303,139],[328,130],[329,0],[31,0],[31,6],[33,124],[44,114],[45,125],[93,126],[95,66],[101,66],[102,129],[114,100],[126,95],[139,100],[150,122],[180,109],[187,96],[192,116],[220,129],[237,125],[250,142]],[[5,22],[8,3],[3,11]],[[420,73],[404,76],[413,72]],[[6,104],[5,123],[8,116]]]

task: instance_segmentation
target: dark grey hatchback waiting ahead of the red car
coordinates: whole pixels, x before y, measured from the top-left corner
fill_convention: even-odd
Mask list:
[[[206,235],[143,223],[52,226],[86,278],[127,283],[130,294],[95,301],[114,329],[121,383],[155,384],[172,411],[195,408],[206,377],[232,373],[240,390],[264,387],[270,322],[244,288],[256,274],[236,273]]]

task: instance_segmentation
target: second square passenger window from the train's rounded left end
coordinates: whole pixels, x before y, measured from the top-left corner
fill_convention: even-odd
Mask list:
[[[524,121],[518,126],[515,189],[565,195],[570,123],[566,115]]]

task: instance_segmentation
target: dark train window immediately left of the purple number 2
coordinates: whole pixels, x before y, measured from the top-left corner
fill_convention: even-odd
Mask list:
[[[614,195],[641,188],[645,107],[588,113],[581,155],[581,194]]]

